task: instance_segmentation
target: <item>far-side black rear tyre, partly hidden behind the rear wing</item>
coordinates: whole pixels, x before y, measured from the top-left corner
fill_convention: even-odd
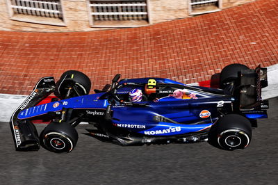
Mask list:
[[[246,65],[233,63],[224,67],[220,73],[220,88],[224,89],[227,83],[238,78],[238,72],[249,69]]]

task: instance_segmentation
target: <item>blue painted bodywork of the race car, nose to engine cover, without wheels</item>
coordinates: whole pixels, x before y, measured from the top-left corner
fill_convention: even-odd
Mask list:
[[[183,134],[199,133],[207,131],[220,118],[221,113],[231,113],[234,97],[223,90],[213,88],[201,88],[187,86],[170,79],[152,78],[165,88],[157,90],[156,99],[147,99],[144,102],[133,105],[121,104],[113,101],[111,107],[112,124],[115,129],[121,128],[131,133],[145,136],[176,136]],[[147,83],[149,78],[123,79],[124,83]],[[169,86],[167,86],[169,84]],[[136,85],[123,86],[117,90],[117,95],[124,96]],[[144,86],[136,86],[143,90]],[[186,90],[188,94],[195,95],[195,99],[178,99],[172,94],[174,90]],[[47,115],[47,113],[62,111],[63,108],[73,108],[74,111],[83,111],[85,118],[90,122],[95,115],[104,115],[110,104],[107,93],[97,93],[81,97],[41,104],[26,108],[21,111],[17,118],[25,120],[29,118]],[[108,96],[108,95],[107,95]],[[145,104],[145,105],[141,105]],[[248,114],[247,118],[263,118],[264,115]],[[98,122],[98,120],[94,120]],[[101,119],[99,119],[101,124]]]

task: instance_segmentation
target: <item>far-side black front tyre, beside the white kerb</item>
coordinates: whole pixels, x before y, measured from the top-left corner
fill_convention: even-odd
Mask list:
[[[82,72],[70,70],[64,72],[56,83],[54,94],[60,99],[88,95],[91,81]]]

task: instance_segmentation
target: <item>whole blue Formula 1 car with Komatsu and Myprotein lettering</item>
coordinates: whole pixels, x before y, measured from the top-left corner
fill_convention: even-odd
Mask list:
[[[188,86],[162,78],[122,79],[90,92],[90,79],[78,71],[58,81],[44,77],[13,113],[10,127],[17,151],[71,152],[80,122],[93,124],[88,135],[118,145],[208,141],[224,150],[250,144],[257,119],[268,118],[267,69],[231,64],[211,77],[211,87]],[[129,91],[142,90],[142,102],[130,102]],[[54,93],[55,96],[52,94]],[[33,122],[49,121],[38,135]]]

